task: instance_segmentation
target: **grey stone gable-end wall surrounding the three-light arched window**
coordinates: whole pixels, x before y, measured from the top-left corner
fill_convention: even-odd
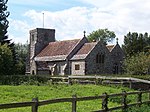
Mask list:
[[[96,63],[97,54],[105,55],[104,63]],[[101,42],[98,42],[98,44],[86,58],[85,74],[109,74],[110,70],[110,53],[106,46],[104,46]]]

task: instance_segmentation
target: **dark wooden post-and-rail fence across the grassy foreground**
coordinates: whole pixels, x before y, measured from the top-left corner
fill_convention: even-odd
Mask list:
[[[148,100],[143,100],[142,95],[146,93],[148,95]],[[127,96],[129,95],[137,95],[137,102],[135,103],[127,103]],[[121,96],[121,104],[117,107],[108,107],[109,98]],[[52,99],[52,100],[45,100],[45,101],[38,101],[38,98],[33,98],[31,102],[21,102],[21,103],[10,103],[10,104],[0,104],[0,109],[8,109],[8,108],[18,108],[18,107],[28,107],[31,106],[31,112],[38,112],[38,107],[48,104],[54,103],[61,103],[61,102],[70,102],[72,103],[72,112],[77,112],[77,102],[79,101],[87,101],[87,100],[96,100],[102,99],[102,109],[93,111],[93,112],[107,112],[112,110],[123,109],[126,110],[128,107],[135,106],[135,105],[142,105],[145,103],[150,103],[150,91],[137,91],[137,92],[126,92],[123,91],[122,93],[118,94],[110,94],[104,93],[101,96],[89,96],[89,97],[80,97],[78,98],[76,95],[73,95],[72,98],[61,98],[61,99]],[[100,107],[101,108],[101,107]]]

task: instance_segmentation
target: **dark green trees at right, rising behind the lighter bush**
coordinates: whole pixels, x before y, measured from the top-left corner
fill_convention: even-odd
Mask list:
[[[122,48],[126,55],[132,56],[136,53],[148,50],[148,46],[150,46],[150,36],[148,36],[148,33],[143,35],[142,33],[129,32],[124,37],[124,45],[122,45]]]

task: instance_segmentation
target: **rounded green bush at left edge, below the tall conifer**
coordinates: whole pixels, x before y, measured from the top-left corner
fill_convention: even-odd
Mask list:
[[[0,44],[0,75],[10,75],[13,67],[11,49],[7,44]]]

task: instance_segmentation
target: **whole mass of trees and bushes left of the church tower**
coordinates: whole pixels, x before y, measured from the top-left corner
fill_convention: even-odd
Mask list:
[[[8,38],[8,0],[0,0],[0,75],[25,74],[27,44],[14,44]]]

